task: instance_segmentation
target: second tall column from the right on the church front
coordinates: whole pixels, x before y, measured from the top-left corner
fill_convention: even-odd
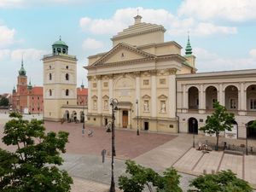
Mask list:
[[[151,72],[151,117],[155,118],[156,117],[156,103],[157,98],[156,98],[156,70],[152,70]]]

